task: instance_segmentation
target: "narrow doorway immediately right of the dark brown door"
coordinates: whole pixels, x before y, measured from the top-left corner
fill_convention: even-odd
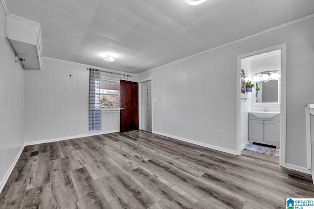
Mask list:
[[[139,82],[139,129],[153,131],[152,79]]]

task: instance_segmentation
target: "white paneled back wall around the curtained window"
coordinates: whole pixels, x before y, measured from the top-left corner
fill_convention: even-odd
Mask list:
[[[41,70],[25,71],[26,143],[120,129],[119,111],[110,111],[102,113],[102,130],[88,130],[88,67],[93,68],[43,58]],[[119,75],[103,72],[102,77],[119,79]],[[136,80],[136,75],[132,75],[130,80]]]

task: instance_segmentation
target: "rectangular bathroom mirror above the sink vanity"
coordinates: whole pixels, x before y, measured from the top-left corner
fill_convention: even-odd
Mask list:
[[[278,80],[260,81],[255,83],[259,91],[255,93],[256,103],[278,103]]]

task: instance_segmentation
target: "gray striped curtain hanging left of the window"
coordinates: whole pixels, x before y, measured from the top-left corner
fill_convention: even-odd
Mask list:
[[[102,129],[102,114],[100,108],[100,71],[90,70],[89,76],[89,130]]]

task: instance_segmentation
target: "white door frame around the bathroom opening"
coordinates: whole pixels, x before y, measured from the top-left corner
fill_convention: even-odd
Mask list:
[[[287,43],[236,56],[236,155],[241,155],[241,59],[281,49],[280,162],[286,167]]]

